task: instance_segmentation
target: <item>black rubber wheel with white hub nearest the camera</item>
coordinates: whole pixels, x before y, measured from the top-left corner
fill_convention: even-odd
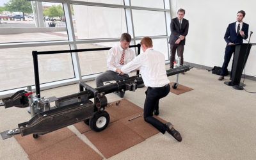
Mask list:
[[[95,132],[99,132],[106,129],[106,127],[108,127],[108,124],[109,114],[106,111],[97,111],[93,115],[93,118],[90,118],[89,121],[90,128]]]

